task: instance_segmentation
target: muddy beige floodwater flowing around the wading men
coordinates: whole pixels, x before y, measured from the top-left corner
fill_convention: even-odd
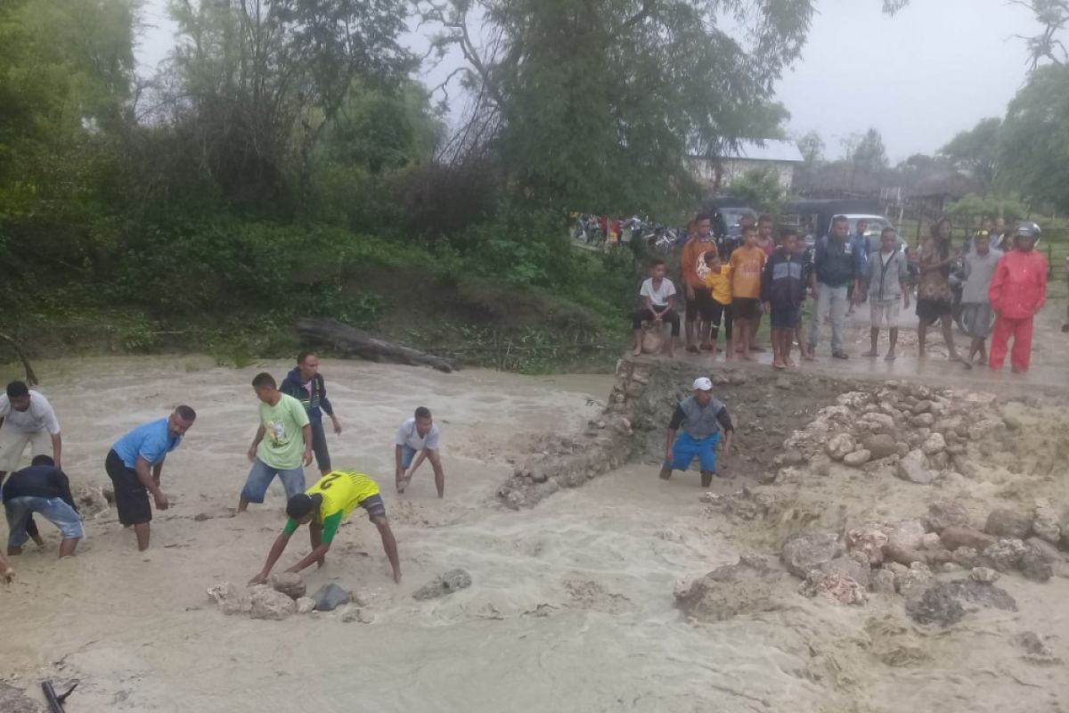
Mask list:
[[[343,621],[340,611],[283,621],[224,616],[206,590],[244,586],[283,524],[277,482],[265,505],[236,517],[229,510],[257,427],[249,383],[261,369],[281,378],[290,365],[234,370],[202,357],[161,357],[35,367],[62,423],[64,468],[76,486],[107,483],[105,455],[126,430],[179,403],[199,415],[164,468],[172,506],[155,514],[148,553],[137,552],[133,532],[108,510],[89,521],[78,556],[57,561],[58,534],[42,523],[46,551],[28,547],[13,561],[16,580],[0,587],[0,677],[35,700],[44,679],[78,680],[71,713],[1069,711],[1063,576],[1036,583],[1006,574],[998,586],[1018,610],[981,609],[946,627],[914,622],[895,594],[836,606],[799,593],[789,577],[777,580],[777,604],[766,610],[692,621],[676,606],[680,583],[742,555],[776,565],[783,523],[711,511],[697,474],[663,482],[647,463],[533,509],[502,507],[495,493],[514,465],[540,436],[580,431],[597,418],[610,375],[439,374],[322,360],[344,425],[328,436],[335,467],[383,484],[403,579],[390,578],[377,532],[357,510],[326,567],[306,571],[306,580],[309,591],[334,582],[357,592],[367,623]],[[814,393],[814,410],[835,396]],[[428,466],[403,496],[391,484],[394,432],[419,405],[441,429],[444,500]],[[1009,408],[1027,431],[1034,412]],[[1048,423],[1069,423],[1064,406],[1043,408]],[[1069,448],[1066,430],[1058,433],[1043,430],[1034,444],[1051,462]],[[812,493],[795,509],[858,521],[920,516],[929,494],[1031,508],[1040,495],[1065,498],[1062,463],[1016,474],[1000,465],[975,482],[930,486],[833,472],[792,497]],[[307,478],[314,480],[314,468]],[[752,484],[715,485],[729,494]],[[307,547],[301,531],[280,567]],[[454,568],[470,574],[469,588],[413,599]]]

